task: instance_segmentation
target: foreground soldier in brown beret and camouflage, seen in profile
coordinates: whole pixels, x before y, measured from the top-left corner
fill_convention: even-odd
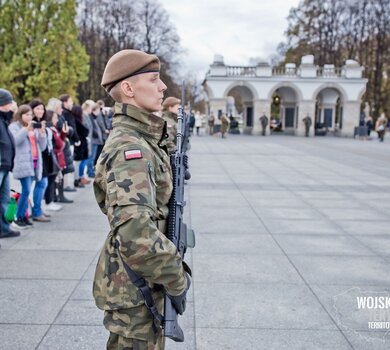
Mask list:
[[[190,284],[175,245],[165,236],[172,171],[161,144],[166,123],[153,114],[161,110],[166,90],[159,71],[156,56],[122,50],[110,58],[102,77],[116,103],[94,180],[110,233],[96,266],[93,295],[105,311],[109,350],[164,349],[157,317],[163,312],[163,291],[183,313]]]

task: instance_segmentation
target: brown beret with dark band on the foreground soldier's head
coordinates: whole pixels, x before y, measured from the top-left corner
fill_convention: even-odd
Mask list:
[[[101,85],[110,92],[116,84],[126,78],[159,71],[160,60],[157,56],[139,50],[122,50],[108,60]]]

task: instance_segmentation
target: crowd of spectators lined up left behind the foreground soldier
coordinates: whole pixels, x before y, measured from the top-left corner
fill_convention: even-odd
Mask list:
[[[73,202],[65,193],[85,187],[95,176],[112,116],[102,100],[76,105],[63,94],[47,104],[37,98],[17,106],[12,94],[0,89],[0,238],[19,236],[34,221],[50,222],[51,211]],[[11,174],[21,185],[14,213],[9,208]]]

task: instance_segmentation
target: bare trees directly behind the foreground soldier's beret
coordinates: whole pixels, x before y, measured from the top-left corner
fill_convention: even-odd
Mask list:
[[[169,92],[178,87],[171,75],[181,53],[179,36],[161,4],[153,0],[81,0],[78,8],[80,38],[91,57],[88,82],[79,87],[80,99],[105,98],[100,79],[108,59],[123,49],[156,54]]]

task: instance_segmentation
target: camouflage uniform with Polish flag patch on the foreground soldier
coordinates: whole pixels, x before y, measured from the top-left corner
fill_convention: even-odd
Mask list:
[[[153,331],[153,318],[122,259],[145,278],[160,313],[161,286],[173,296],[186,287],[181,257],[164,235],[172,172],[159,146],[163,136],[162,118],[116,103],[113,130],[96,165],[95,196],[111,231],[100,253],[93,294],[111,332],[108,349],[164,348],[162,330]]]

